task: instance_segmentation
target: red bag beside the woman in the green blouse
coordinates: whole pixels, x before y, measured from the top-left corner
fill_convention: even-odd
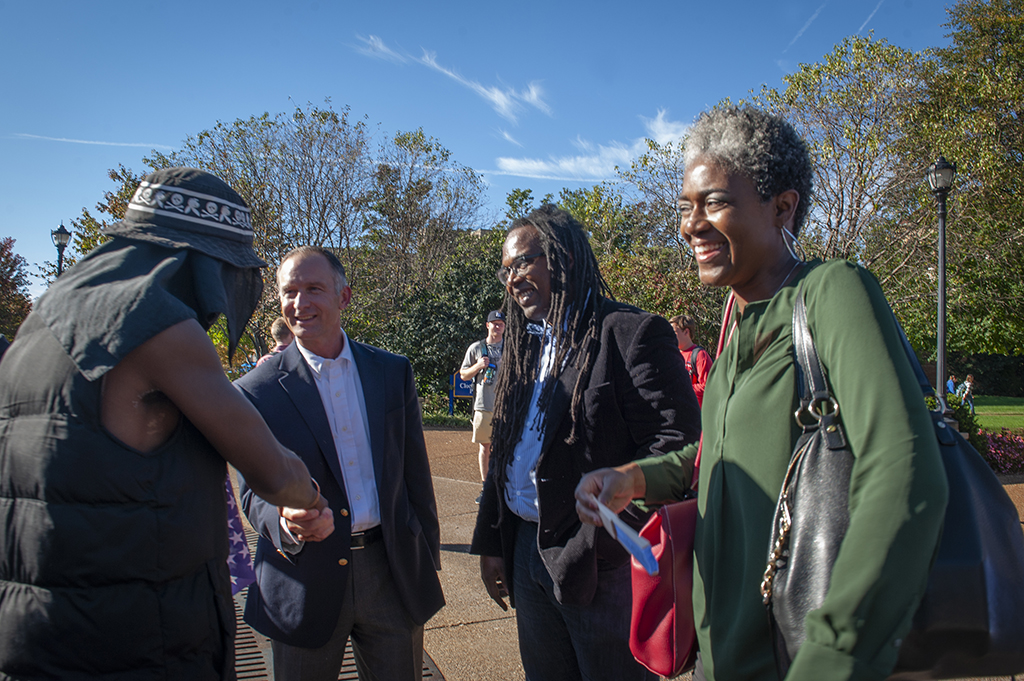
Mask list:
[[[696,662],[697,635],[693,626],[696,522],[696,499],[663,506],[640,530],[657,559],[657,574],[651,577],[636,559],[632,560],[630,651],[637,662],[662,676],[678,676]]]

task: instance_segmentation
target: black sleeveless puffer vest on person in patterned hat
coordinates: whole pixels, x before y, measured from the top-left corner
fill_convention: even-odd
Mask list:
[[[0,679],[234,678],[223,459],[143,454],[33,313],[0,363]]]

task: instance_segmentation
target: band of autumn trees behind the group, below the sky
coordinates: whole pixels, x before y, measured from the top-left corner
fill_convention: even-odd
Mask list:
[[[947,47],[914,53],[852,36],[751,98],[811,145],[815,196],[800,235],[807,255],[871,269],[924,357],[935,347],[937,298],[936,207],[925,171],[940,154],[954,161],[948,348],[1024,355],[1024,0],[959,0],[948,11]],[[700,284],[679,233],[685,147],[685,136],[648,140],[615,178],[541,203],[557,202],[588,230],[617,299],[692,314],[701,344],[714,347],[724,292]],[[348,269],[346,331],[408,354],[431,391],[500,304],[494,272],[504,233],[537,204],[529,188],[516,188],[504,216],[486,217],[480,175],[439,140],[422,129],[386,135],[330,100],[217,122],[146,163],[209,170],[252,208],[256,250],[271,265],[250,327],[254,352],[279,313],[281,256],[321,245]],[[139,176],[122,166],[111,178],[118,188],[95,217],[83,211],[73,224],[77,254],[120,219]]]

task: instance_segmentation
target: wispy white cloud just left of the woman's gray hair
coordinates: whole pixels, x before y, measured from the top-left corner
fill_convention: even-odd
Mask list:
[[[610,141],[607,144],[594,144],[578,136],[571,143],[581,154],[551,156],[547,159],[501,157],[496,162],[498,169],[488,172],[535,179],[600,182],[614,177],[616,166],[628,166],[646,152],[647,138],[662,144],[677,141],[686,134],[688,128],[684,123],[670,120],[669,113],[665,110],[658,110],[654,118],[641,116],[640,120],[646,134],[630,143]]]

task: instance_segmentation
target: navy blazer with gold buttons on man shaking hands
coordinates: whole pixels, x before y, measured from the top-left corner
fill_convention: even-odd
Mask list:
[[[349,341],[351,342],[351,341]],[[409,359],[352,342],[367,407],[370,448],[380,500],[381,529],[391,577],[410,616],[423,624],[444,604],[440,529],[420,406]],[[335,530],[284,554],[278,508],[240,479],[242,505],[260,534],[256,583],[245,620],[274,640],[301,647],[327,643],[345,602],[351,560],[351,518],[341,466],[312,372],[296,343],[236,381],[282,444],[295,452],[321,485]],[[341,564],[344,561],[344,565]]]

